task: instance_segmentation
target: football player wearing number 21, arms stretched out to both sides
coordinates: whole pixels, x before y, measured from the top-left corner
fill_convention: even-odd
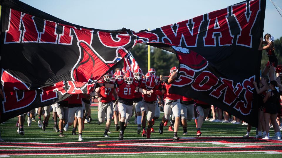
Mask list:
[[[119,88],[118,92],[118,110],[120,112],[120,136],[119,140],[123,140],[123,134],[127,123],[132,114],[132,105],[133,105],[133,95],[134,91],[137,90],[143,94],[152,94],[152,90],[147,91],[139,87],[139,82],[134,79],[134,75],[131,71],[127,70],[124,73],[124,80],[117,79],[115,84],[110,83],[98,83],[100,86],[106,88]]]

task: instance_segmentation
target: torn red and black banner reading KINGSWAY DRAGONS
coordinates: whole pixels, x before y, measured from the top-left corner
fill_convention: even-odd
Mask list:
[[[252,82],[259,78],[265,4],[244,1],[135,33],[85,28],[20,1],[1,0],[1,121],[89,93],[98,78],[142,43],[177,55],[180,69],[171,93],[213,104],[257,126]]]

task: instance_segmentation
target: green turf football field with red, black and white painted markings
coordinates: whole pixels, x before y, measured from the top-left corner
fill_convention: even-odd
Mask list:
[[[31,127],[25,121],[25,135],[17,133],[17,118],[0,124],[1,137],[0,157],[281,157],[282,141],[243,139],[247,126],[231,123],[217,123],[205,121],[201,128],[202,136],[196,137],[197,129],[194,121],[189,121],[188,135],[182,135],[180,126],[178,135],[181,140],[172,141],[173,132],[164,127],[164,133],[158,133],[161,119],[155,121],[155,133],[151,138],[137,135],[137,125],[134,117],[125,130],[125,140],[119,141],[119,132],[115,131],[112,121],[110,138],[103,137],[105,123],[97,124],[97,107],[91,107],[93,121],[85,124],[83,131],[84,142],[78,142],[78,136],[71,135],[72,127],[64,132],[66,137],[59,138],[53,130],[53,121],[49,120],[46,131],[32,122]],[[161,116],[163,113],[161,112]],[[36,117],[36,120],[38,118]],[[27,119],[26,119],[27,120]],[[256,129],[251,130],[254,137]],[[274,134],[271,128],[270,135]]]

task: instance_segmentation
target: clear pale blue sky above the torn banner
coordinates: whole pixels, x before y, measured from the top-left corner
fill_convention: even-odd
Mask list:
[[[187,20],[243,0],[21,0],[41,11],[73,24],[104,30],[127,28],[138,32]],[[282,8],[282,0],[273,0]],[[282,36],[282,17],[266,0],[264,34]]]

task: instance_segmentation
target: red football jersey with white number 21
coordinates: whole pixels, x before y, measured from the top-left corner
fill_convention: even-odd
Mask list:
[[[134,96],[134,91],[137,86],[139,86],[139,82],[135,79],[133,79],[132,84],[128,85],[124,82],[124,80],[117,79],[115,80],[115,83],[117,84],[117,87],[119,88],[118,97],[124,98],[124,99],[132,99]]]

